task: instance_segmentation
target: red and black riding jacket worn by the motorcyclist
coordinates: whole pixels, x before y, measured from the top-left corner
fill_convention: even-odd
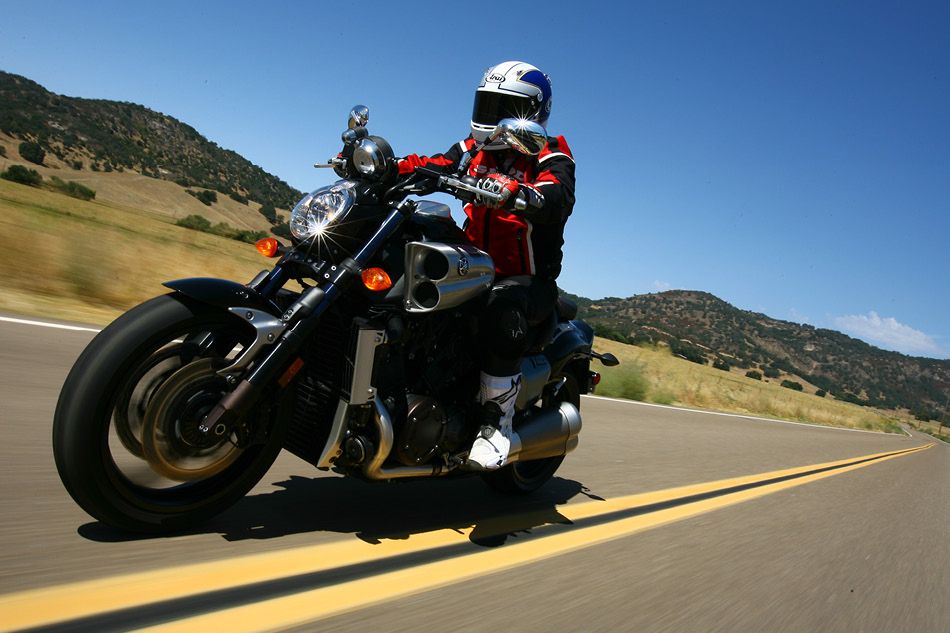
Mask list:
[[[401,173],[420,166],[454,171],[462,154],[475,145],[471,137],[444,154],[412,154],[399,162]],[[465,233],[495,261],[500,277],[535,275],[556,279],[561,272],[564,225],[574,209],[574,157],[563,136],[548,138],[538,156],[514,150],[481,151],[468,166],[468,175],[481,178],[500,173],[530,187],[544,198],[541,208],[524,211],[465,205]]]

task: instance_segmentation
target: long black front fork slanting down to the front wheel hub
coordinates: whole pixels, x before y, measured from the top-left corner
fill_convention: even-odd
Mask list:
[[[258,329],[258,340],[248,347],[241,356],[222,373],[228,375],[229,383],[237,383],[232,372],[254,366],[250,373],[237,383],[233,391],[225,395],[208,416],[198,425],[198,430],[206,435],[226,436],[244,411],[249,410],[260,398],[267,385],[280,380],[286,384],[293,379],[291,374],[297,363],[293,359],[310,336],[316,331],[320,317],[333,302],[358,278],[366,264],[402,226],[405,219],[415,210],[415,203],[406,200],[393,208],[383,220],[376,233],[352,258],[344,260],[336,270],[331,269],[329,279],[322,287],[308,288],[277,320],[271,315],[259,317],[255,311],[247,308],[232,308],[232,312],[243,315]],[[286,274],[271,274],[262,279],[266,283],[264,293],[276,292],[286,282]],[[265,281],[266,280],[266,281]],[[280,284],[280,285],[277,285]],[[264,313],[261,313],[262,315]],[[254,319],[269,319],[264,323],[254,323]],[[263,334],[264,341],[258,344]],[[267,344],[273,342],[269,349]],[[266,351],[265,351],[266,350]],[[297,366],[299,369],[299,366]],[[284,380],[286,378],[286,380]]]

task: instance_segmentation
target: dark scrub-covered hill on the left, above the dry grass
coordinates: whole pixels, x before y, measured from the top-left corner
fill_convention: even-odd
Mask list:
[[[131,171],[288,209],[303,195],[194,128],[134,103],[52,93],[0,71],[0,132],[37,145],[67,168]]]

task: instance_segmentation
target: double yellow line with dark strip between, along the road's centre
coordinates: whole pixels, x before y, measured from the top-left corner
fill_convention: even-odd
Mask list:
[[[546,536],[504,547],[472,543],[471,528],[444,529],[378,544],[352,539],[24,591],[0,596],[0,631],[65,623],[131,630],[154,622],[161,624],[139,630],[281,629],[590,547],[931,446],[562,505],[558,512],[572,525],[546,528],[551,532]],[[176,614],[181,619],[164,622]]]

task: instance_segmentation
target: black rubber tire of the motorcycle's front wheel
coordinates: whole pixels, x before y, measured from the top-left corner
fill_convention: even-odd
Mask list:
[[[255,440],[234,442],[238,454],[208,471],[208,476],[182,483],[149,467],[141,450],[144,433],[128,424],[127,412],[151,402],[130,403],[129,394],[162,400],[161,386],[136,389],[130,381],[156,380],[148,370],[169,350],[189,347],[189,341],[213,339],[196,355],[190,349],[181,369],[162,380],[171,382],[195,363],[233,356],[254,338],[239,318],[220,309],[171,294],[147,301],[119,317],[83,351],[63,385],[53,420],[56,468],[70,496],[94,518],[115,528],[137,532],[181,530],[205,520],[243,497],[270,468],[280,452],[282,421],[292,406],[291,389],[265,394],[248,424],[258,430]],[[191,345],[190,347],[194,347]],[[174,352],[172,352],[174,353]],[[163,361],[164,362],[164,361]],[[217,387],[220,389],[220,386]],[[220,397],[220,393],[216,396]],[[206,396],[210,399],[210,396]],[[194,417],[193,414],[192,417]],[[130,435],[131,434],[131,435]]]

